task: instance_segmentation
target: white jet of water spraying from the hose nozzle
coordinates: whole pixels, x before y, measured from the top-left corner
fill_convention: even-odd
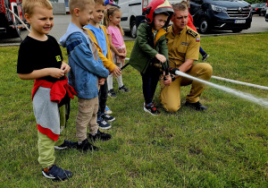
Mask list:
[[[242,92],[242,91],[239,91],[239,90],[230,89],[230,88],[220,86],[220,85],[217,85],[217,84],[209,82],[209,81],[203,81],[203,80],[197,79],[196,77],[190,76],[187,73],[182,73],[180,71],[176,71],[175,74],[183,76],[183,77],[186,77],[186,78],[194,80],[194,81],[203,82],[206,85],[212,86],[212,87],[214,87],[216,89],[219,89],[219,90],[226,91],[226,92],[228,92],[228,93],[230,93],[232,95],[238,96],[239,98],[245,98],[248,101],[256,103],[257,105],[260,105],[260,106],[268,108],[268,99],[267,98],[256,98],[256,97],[254,97],[253,95],[251,95],[249,93],[245,93],[245,92]]]

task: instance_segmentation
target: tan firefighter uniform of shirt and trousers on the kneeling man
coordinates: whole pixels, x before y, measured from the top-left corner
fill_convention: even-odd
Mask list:
[[[200,36],[188,26],[180,31],[179,34],[174,34],[172,26],[166,33],[167,47],[169,49],[170,66],[179,68],[184,64],[185,59],[198,60]],[[193,64],[187,72],[191,76],[198,79],[209,81],[213,69],[210,64],[197,63]],[[192,81],[188,78],[180,76],[175,81],[172,81],[170,86],[165,86],[161,81],[160,101],[167,111],[176,112],[180,108],[180,86],[187,86],[191,84],[191,90],[186,97],[189,103],[196,103],[199,101],[199,96],[205,89],[205,84],[199,81]]]

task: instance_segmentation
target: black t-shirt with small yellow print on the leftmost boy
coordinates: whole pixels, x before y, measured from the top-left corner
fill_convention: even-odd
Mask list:
[[[46,41],[40,41],[27,36],[19,49],[17,73],[32,73],[44,68],[61,68],[63,55],[56,39],[47,35]],[[41,78],[46,81],[55,82],[58,79],[46,76]],[[63,80],[62,77],[60,80]]]

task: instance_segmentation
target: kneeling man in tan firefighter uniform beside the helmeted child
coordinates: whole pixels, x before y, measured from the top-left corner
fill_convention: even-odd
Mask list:
[[[187,26],[188,7],[185,4],[174,4],[174,14],[172,15],[173,25],[166,33],[167,47],[169,49],[169,62],[173,68],[180,69],[180,72],[188,73],[198,79],[209,81],[213,69],[210,64],[197,63],[200,36]],[[167,77],[166,81],[161,81],[160,101],[167,111],[176,112],[180,108],[180,86],[191,84],[191,90],[186,97],[185,105],[193,107],[198,111],[206,110],[207,107],[199,102],[199,97],[205,89],[205,84],[199,81],[192,81],[187,78],[175,75],[175,81]],[[168,86],[167,84],[170,84]]]

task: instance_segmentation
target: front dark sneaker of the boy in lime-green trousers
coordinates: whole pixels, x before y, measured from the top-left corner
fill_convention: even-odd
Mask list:
[[[42,174],[46,178],[53,179],[53,180],[63,180],[63,181],[68,179],[72,175],[70,171],[63,170],[62,168],[57,167],[55,165],[50,168],[48,173],[46,173],[43,168]]]

